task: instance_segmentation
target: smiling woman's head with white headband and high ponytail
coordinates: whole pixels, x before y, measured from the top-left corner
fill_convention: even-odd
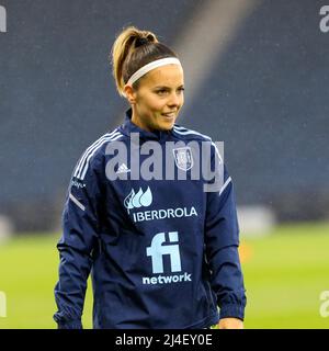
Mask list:
[[[177,55],[152,33],[134,27],[117,37],[112,55],[116,87],[132,105],[132,122],[148,132],[171,129],[184,103]]]

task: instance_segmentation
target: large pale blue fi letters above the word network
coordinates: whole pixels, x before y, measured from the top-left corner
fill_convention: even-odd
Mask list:
[[[150,256],[152,259],[152,272],[163,273],[163,254],[169,254],[171,272],[180,272],[181,268],[181,257],[180,248],[178,244],[178,233],[169,233],[169,245],[162,245],[166,242],[164,233],[157,234],[151,241],[150,247],[146,248],[146,254]]]

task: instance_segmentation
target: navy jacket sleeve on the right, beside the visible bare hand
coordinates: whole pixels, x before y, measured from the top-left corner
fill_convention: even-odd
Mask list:
[[[211,285],[217,296],[220,318],[243,320],[246,294],[239,260],[239,226],[234,185],[223,168],[219,191],[207,193],[205,250],[211,270]]]

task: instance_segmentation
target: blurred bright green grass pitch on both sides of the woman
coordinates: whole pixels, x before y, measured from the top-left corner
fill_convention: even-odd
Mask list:
[[[2,328],[56,328],[54,285],[59,235],[21,236],[0,245]],[[319,314],[329,291],[329,224],[285,225],[269,236],[241,238],[248,306],[245,328],[329,328]],[[91,285],[83,314],[91,328]]]

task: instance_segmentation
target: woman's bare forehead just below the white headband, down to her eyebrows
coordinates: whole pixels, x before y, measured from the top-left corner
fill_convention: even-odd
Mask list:
[[[143,83],[147,86],[181,86],[184,83],[183,69],[179,65],[166,65],[145,75]]]

